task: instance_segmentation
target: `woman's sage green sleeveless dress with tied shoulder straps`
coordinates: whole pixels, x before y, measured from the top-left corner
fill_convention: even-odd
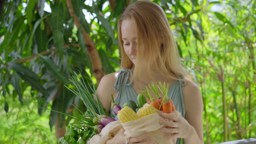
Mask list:
[[[119,74],[114,85],[114,90],[118,91],[115,102],[118,103],[120,106],[123,106],[123,104],[128,102],[129,100],[133,100],[137,103],[137,94],[134,88],[132,87],[132,71],[130,69],[121,69],[118,72]],[[131,81],[129,81],[130,76],[132,77]],[[186,110],[183,103],[182,86],[185,86],[186,82],[183,77],[182,79],[183,82],[180,80],[175,80],[173,82],[173,84],[170,86],[168,90],[168,97],[172,99],[176,110],[179,111],[181,115],[184,117]],[[114,116],[114,119],[118,120],[116,114],[114,114],[111,108],[110,114]],[[176,144],[180,144],[180,141],[181,139],[178,138]]]

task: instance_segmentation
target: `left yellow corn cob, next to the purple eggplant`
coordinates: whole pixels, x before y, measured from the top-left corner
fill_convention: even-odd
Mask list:
[[[117,117],[122,124],[130,122],[132,120],[138,120],[140,118],[129,106],[125,106],[124,108],[122,108],[118,112]]]

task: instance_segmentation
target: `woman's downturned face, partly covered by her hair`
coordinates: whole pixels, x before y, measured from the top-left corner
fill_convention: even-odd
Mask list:
[[[133,20],[124,20],[122,22],[121,33],[124,51],[135,65],[137,58],[137,33]]]

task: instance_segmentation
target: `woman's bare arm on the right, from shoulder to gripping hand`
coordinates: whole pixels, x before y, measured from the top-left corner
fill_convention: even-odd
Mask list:
[[[186,81],[186,86],[182,88],[182,92],[186,108],[185,118],[162,113],[163,117],[174,122],[161,120],[160,124],[166,127],[162,127],[160,130],[173,134],[172,136],[166,136],[168,139],[184,138],[185,144],[204,144],[202,124],[203,102],[200,89],[193,82]]]

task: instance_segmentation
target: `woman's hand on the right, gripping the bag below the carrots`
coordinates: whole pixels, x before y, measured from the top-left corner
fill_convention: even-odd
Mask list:
[[[176,139],[176,138],[188,138],[189,137],[189,132],[188,130],[192,127],[188,121],[183,118],[182,116],[176,116],[172,113],[167,114],[167,113],[162,113],[161,116],[163,118],[167,118],[172,121],[167,121],[167,120],[160,120],[159,123],[163,126],[160,128],[162,132],[167,132],[170,133],[170,135],[164,136],[166,139]],[[172,135],[171,135],[172,134]]]

